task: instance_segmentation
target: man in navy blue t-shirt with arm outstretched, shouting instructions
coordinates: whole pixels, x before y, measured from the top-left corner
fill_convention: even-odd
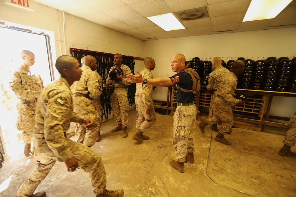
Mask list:
[[[194,104],[194,94],[191,92],[183,92],[182,89],[192,90],[192,77],[190,74],[184,72],[185,56],[183,54],[176,54],[171,58],[171,67],[173,72],[177,74],[164,79],[144,79],[137,71],[138,75],[128,74],[126,79],[132,83],[149,84],[153,86],[168,86],[176,84],[177,89],[177,108],[174,114],[174,135],[173,146],[176,150],[176,161],[171,159],[170,165],[178,170],[184,172],[184,161],[188,160],[194,163],[194,139],[193,131],[196,120],[196,106]]]

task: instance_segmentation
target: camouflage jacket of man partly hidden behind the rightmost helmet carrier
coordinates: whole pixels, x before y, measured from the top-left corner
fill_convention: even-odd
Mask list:
[[[207,89],[217,90],[221,80],[228,73],[229,73],[229,70],[227,70],[223,66],[217,67],[213,72],[209,74],[209,84],[207,85]]]

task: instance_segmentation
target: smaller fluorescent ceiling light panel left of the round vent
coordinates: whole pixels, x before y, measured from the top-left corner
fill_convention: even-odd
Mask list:
[[[154,17],[147,17],[147,19],[151,20],[156,25],[163,28],[165,31],[185,29],[185,27],[172,13],[161,14]]]

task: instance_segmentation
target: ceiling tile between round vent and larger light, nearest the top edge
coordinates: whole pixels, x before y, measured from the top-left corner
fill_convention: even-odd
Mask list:
[[[245,12],[250,0],[234,0],[219,4],[208,5],[210,17],[238,14]]]

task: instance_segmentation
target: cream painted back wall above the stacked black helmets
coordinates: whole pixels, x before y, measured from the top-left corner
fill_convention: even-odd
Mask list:
[[[155,78],[173,76],[170,58],[182,53],[186,61],[199,57],[201,60],[212,61],[216,56],[225,62],[238,57],[246,59],[266,59],[269,56],[296,56],[296,27],[236,32],[227,34],[204,35],[184,38],[144,41],[144,57],[155,58],[156,67],[152,71]],[[152,97],[154,100],[166,101],[167,88],[157,87]],[[270,115],[292,117],[296,112],[296,98],[274,97]]]

